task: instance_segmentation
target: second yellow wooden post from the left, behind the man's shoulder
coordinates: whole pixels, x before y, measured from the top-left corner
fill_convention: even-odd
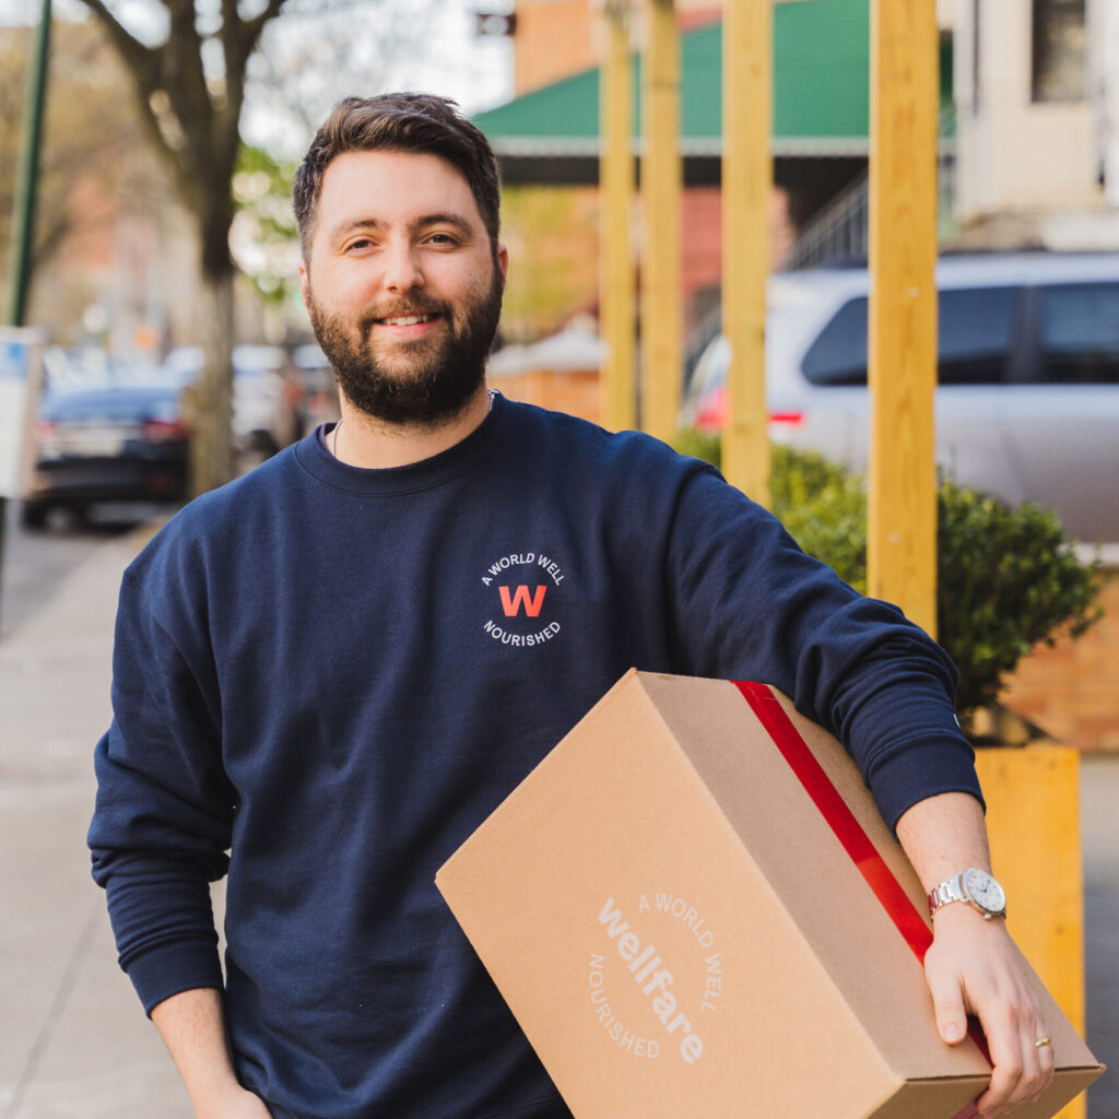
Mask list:
[[[673,0],[646,0],[641,78],[641,426],[671,440],[680,403],[679,36]]]

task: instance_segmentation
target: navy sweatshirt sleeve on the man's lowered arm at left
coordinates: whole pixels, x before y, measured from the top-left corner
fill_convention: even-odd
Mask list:
[[[228,866],[234,792],[216,694],[197,661],[126,572],[88,843],[121,967],[149,1014],[179,991],[223,986],[209,883]]]

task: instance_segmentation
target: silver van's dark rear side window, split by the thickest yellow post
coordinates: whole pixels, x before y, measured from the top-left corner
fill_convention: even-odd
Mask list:
[[[1008,379],[1016,297],[1016,288],[940,292],[941,385],[998,385]],[[805,355],[805,376],[816,385],[865,385],[866,322],[865,295],[844,303]]]

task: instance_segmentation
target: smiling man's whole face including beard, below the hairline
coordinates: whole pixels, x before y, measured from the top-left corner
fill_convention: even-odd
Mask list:
[[[507,266],[445,160],[398,151],[333,160],[300,276],[347,399],[388,423],[433,425],[461,412],[485,379]]]

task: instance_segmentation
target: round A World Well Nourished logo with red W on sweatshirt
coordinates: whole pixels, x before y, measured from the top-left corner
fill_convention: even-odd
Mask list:
[[[556,614],[564,579],[560,564],[543,553],[500,556],[482,575],[491,595],[490,617],[482,629],[495,641],[514,648],[551,641],[562,628]]]

